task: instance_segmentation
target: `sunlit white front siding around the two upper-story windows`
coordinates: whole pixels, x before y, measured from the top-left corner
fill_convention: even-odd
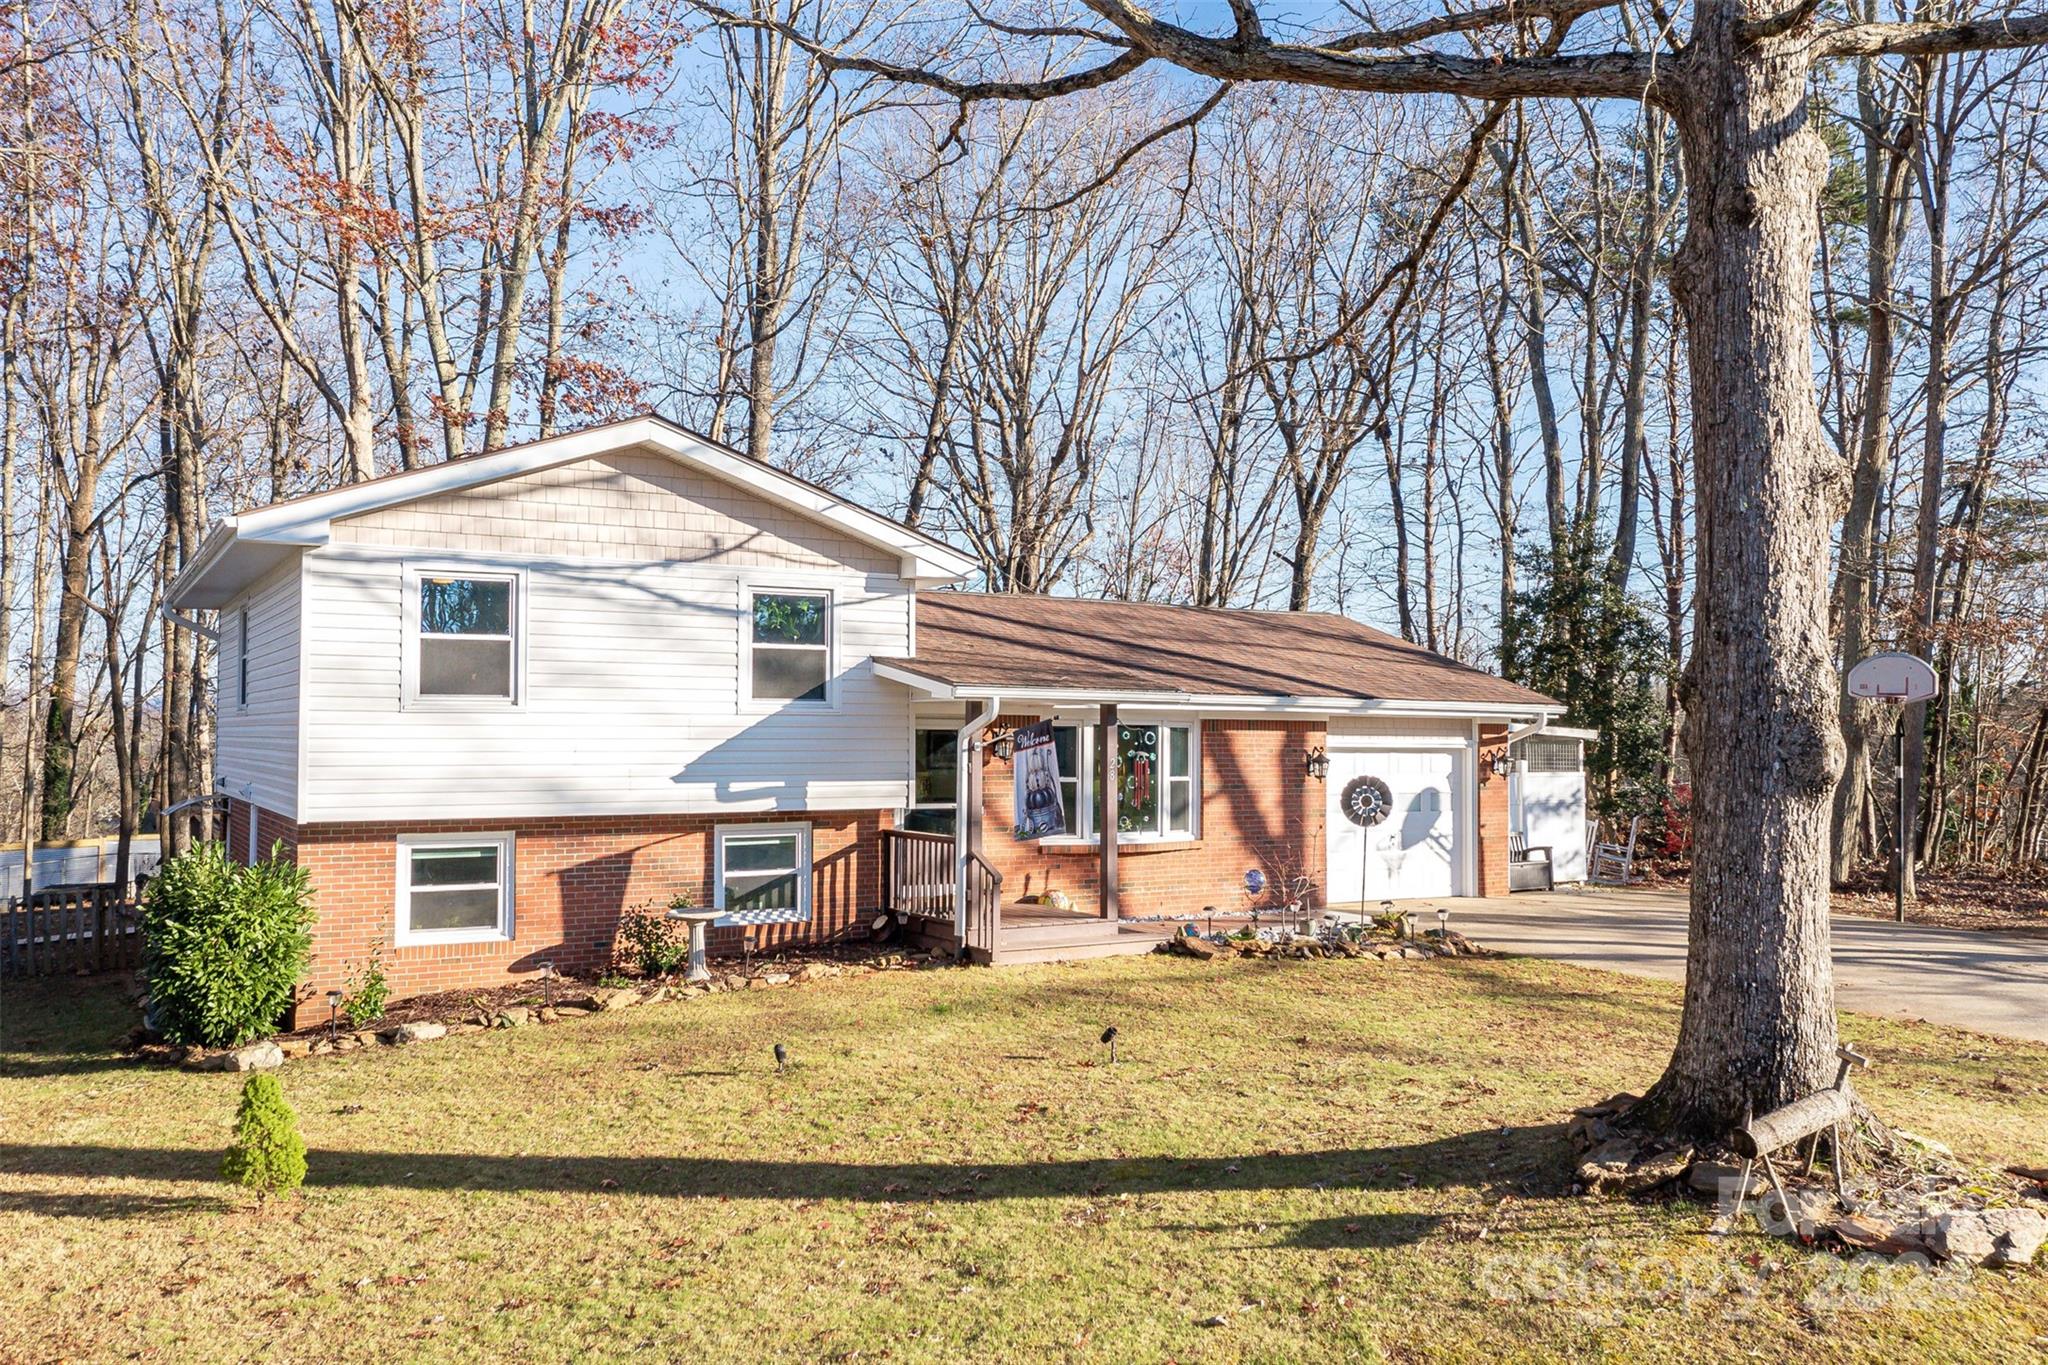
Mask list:
[[[518,571],[520,704],[403,704],[408,565]],[[831,706],[743,700],[748,593],[831,593]],[[909,702],[872,655],[909,651],[889,575],[451,555],[305,557],[307,821],[858,810],[909,800]]]

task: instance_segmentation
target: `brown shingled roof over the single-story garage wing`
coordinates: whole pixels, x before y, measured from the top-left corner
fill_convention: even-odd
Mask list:
[[[952,688],[1556,704],[1329,612],[928,591],[915,657],[885,663]]]

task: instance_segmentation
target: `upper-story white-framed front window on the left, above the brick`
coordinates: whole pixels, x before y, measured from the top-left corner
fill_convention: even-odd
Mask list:
[[[408,575],[408,694],[414,700],[518,700],[518,573],[420,569]]]

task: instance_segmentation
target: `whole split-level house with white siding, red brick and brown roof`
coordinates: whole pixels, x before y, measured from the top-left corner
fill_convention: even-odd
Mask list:
[[[940,591],[971,573],[639,417],[242,512],[170,604],[217,612],[231,847],[311,872],[309,997],[371,945],[399,995],[594,970],[678,894],[725,945],[883,909],[975,945],[1044,890],[1102,937],[1235,909],[1253,868],[1333,900],[1505,888],[1493,755],[1546,698],[1333,616]],[[1036,718],[1065,829],[1020,841],[1008,735]],[[1335,804],[1368,772],[1393,829]]]

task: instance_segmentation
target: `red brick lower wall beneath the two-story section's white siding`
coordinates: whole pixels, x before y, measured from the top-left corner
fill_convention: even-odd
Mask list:
[[[236,802],[238,810],[246,810]],[[248,823],[231,823],[244,843]],[[549,960],[561,972],[596,972],[612,958],[618,917],[633,907],[666,907],[678,892],[711,905],[713,831],[745,823],[811,825],[811,921],[762,925],[754,945],[776,948],[829,939],[881,902],[881,837],[891,814],[764,812],[750,817],[641,814],[545,821],[426,821],[375,825],[301,825],[293,829],[262,812],[258,837],[276,835],[295,845],[311,874],[319,919],[313,925],[313,962],[303,988],[301,1023],[326,1019],[324,995],[340,986],[348,962],[383,945],[385,976],[393,997],[500,986],[541,970]],[[436,943],[397,948],[397,837],[442,833],[514,835],[514,911],[510,941]],[[741,931],[719,929],[713,952],[739,952]]]

